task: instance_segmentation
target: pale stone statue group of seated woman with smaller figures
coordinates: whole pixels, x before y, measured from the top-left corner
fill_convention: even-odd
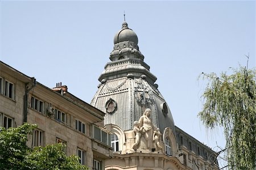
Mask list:
[[[150,119],[151,110],[146,109],[139,118],[139,121],[134,122],[134,144],[131,150],[146,150],[146,151],[162,151],[160,146],[161,133],[158,127],[155,127]]]

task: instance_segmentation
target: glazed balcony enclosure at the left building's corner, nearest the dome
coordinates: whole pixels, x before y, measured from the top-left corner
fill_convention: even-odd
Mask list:
[[[93,137],[108,146],[111,144],[110,134],[97,126],[93,126]]]

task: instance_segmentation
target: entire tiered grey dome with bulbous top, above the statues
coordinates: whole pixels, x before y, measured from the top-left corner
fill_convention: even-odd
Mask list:
[[[137,35],[124,22],[114,37],[112,61],[98,79],[101,85],[90,105],[106,113],[104,125],[116,125],[123,131],[133,130],[134,122],[151,109],[153,125],[162,133],[171,128],[175,134],[171,110],[154,84],[156,77],[144,63],[144,56],[139,56],[137,43]]]

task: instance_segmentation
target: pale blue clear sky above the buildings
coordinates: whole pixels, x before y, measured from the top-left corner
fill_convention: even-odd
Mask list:
[[[0,60],[90,103],[123,22],[166,99],[175,125],[210,147],[225,142],[197,118],[201,72],[255,68],[254,1],[0,1]]]

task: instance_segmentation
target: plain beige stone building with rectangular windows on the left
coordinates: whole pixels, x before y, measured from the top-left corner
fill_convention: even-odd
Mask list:
[[[110,133],[102,123],[105,114],[67,89],[61,84],[49,89],[0,61],[0,126],[35,123],[29,147],[64,143],[67,155],[78,155],[89,169],[103,169],[113,156]]]

